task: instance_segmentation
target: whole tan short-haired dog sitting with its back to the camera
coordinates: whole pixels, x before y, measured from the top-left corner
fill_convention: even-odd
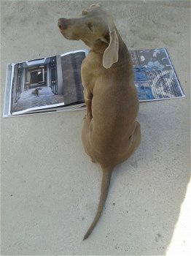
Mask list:
[[[86,239],[101,216],[112,170],[139,146],[139,100],[130,54],[109,14],[92,4],[79,18],[59,19],[58,26],[66,39],[81,39],[90,47],[81,69],[87,107],[82,143],[93,162],[101,165],[103,178],[98,211]]]

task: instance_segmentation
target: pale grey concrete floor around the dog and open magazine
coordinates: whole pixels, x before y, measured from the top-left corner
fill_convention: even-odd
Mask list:
[[[7,63],[84,49],[60,17],[95,1],[1,1],[1,109]],[[99,1],[101,2],[101,1]],[[165,47],[184,99],[141,103],[142,142],[115,168],[104,213],[101,170],[82,148],[85,110],[1,118],[1,255],[169,255],[190,181],[189,1],[102,1],[129,49]],[[189,223],[171,252],[186,255]]]

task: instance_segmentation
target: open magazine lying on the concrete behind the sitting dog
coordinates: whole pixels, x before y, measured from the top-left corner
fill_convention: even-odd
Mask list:
[[[4,117],[85,108],[80,75],[87,50],[7,65]],[[131,50],[139,101],[184,97],[165,48]]]

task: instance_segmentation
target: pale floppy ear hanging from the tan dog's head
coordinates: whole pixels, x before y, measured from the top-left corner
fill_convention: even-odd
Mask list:
[[[109,45],[104,51],[103,66],[106,69],[112,67],[112,64],[118,61],[119,39],[115,29],[109,29]]]

